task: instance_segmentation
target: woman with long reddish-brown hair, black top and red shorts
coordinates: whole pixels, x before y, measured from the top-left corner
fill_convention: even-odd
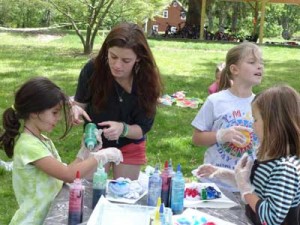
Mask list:
[[[151,129],[162,93],[159,70],[142,29],[114,27],[96,58],[81,70],[73,102],[80,116],[103,129],[103,147],[121,149],[124,161],[113,166],[114,178],[135,180],[146,163],[146,133]],[[85,121],[87,122],[87,121]],[[106,166],[107,170],[109,165]]]

